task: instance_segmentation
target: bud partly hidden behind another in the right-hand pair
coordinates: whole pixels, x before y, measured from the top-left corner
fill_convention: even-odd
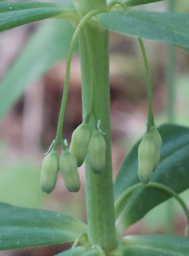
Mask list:
[[[161,144],[162,144],[162,139],[161,139],[161,135],[159,134],[156,126],[152,126],[151,127],[151,135],[152,135],[152,139],[154,140],[154,145],[155,145],[155,157],[154,157],[154,169],[157,167],[158,163],[159,163],[159,159],[160,159],[160,148],[161,148]]]

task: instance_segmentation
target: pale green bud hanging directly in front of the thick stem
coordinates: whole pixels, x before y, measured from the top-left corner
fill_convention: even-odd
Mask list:
[[[91,170],[101,174],[106,166],[106,142],[100,131],[93,131],[88,145],[88,156]]]

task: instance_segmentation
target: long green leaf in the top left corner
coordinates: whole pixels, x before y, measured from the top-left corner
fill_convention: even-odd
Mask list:
[[[0,32],[45,18],[73,12],[62,5],[36,2],[0,2]]]

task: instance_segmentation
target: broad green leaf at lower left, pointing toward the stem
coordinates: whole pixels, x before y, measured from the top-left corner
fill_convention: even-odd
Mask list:
[[[58,212],[0,203],[0,249],[16,249],[74,241],[84,223]]]

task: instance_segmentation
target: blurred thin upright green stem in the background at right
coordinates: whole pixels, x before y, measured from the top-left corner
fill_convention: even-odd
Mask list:
[[[168,9],[175,11],[175,0],[169,0]],[[175,50],[168,45],[168,63],[167,63],[167,86],[168,86],[168,120],[175,120]]]

